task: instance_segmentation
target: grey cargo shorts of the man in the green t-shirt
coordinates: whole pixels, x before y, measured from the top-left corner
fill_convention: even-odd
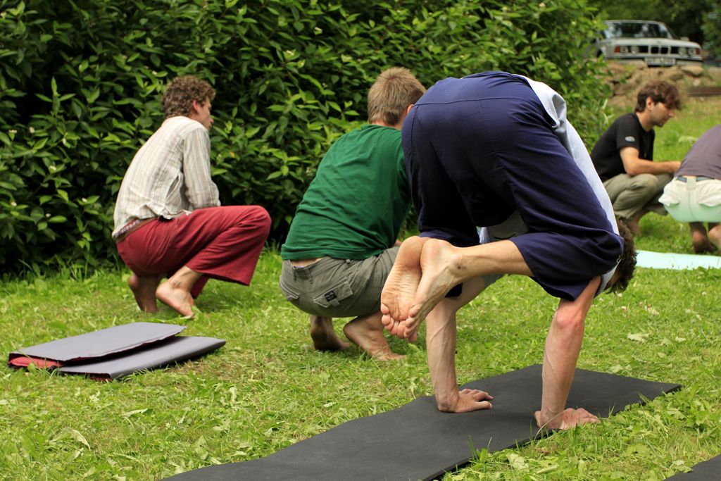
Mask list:
[[[280,291],[301,311],[320,317],[358,317],[381,310],[381,291],[399,247],[364,260],[321,260],[296,268],[283,260]]]

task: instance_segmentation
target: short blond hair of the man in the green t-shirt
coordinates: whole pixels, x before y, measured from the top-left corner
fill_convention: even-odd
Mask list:
[[[410,70],[393,67],[382,71],[368,90],[368,122],[396,125],[424,92],[425,87]]]

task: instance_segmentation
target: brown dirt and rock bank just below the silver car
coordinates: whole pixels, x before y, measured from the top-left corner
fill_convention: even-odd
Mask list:
[[[649,67],[644,62],[609,62],[606,83],[613,89],[609,105],[632,107],[636,94],[647,82],[668,81],[678,85],[684,97],[715,94],[714,87],[721,87],[721,68],[704,66]],[[720,92],[721,93],[721,92]],[[684,99],[685,100],[685,99]]]

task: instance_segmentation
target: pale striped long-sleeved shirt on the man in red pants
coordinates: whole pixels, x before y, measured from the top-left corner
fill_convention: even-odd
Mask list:
[[[136,219],[172,219],[220,206],[211,179],[211,138],[200,122],[166,119],[133,157],[115,203],[112,236]]]

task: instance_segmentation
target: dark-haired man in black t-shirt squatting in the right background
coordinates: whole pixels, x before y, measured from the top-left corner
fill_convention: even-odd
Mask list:
[[[681,162],[653,162],[654,127],[663,127],[681,108],[675,85],[652,81],[638,92],[633,113],[617,118],[591,151],[603,187],[609,193],[616,217],[640,234],[639,221],[654,211],[665,216],[658,198]]]

